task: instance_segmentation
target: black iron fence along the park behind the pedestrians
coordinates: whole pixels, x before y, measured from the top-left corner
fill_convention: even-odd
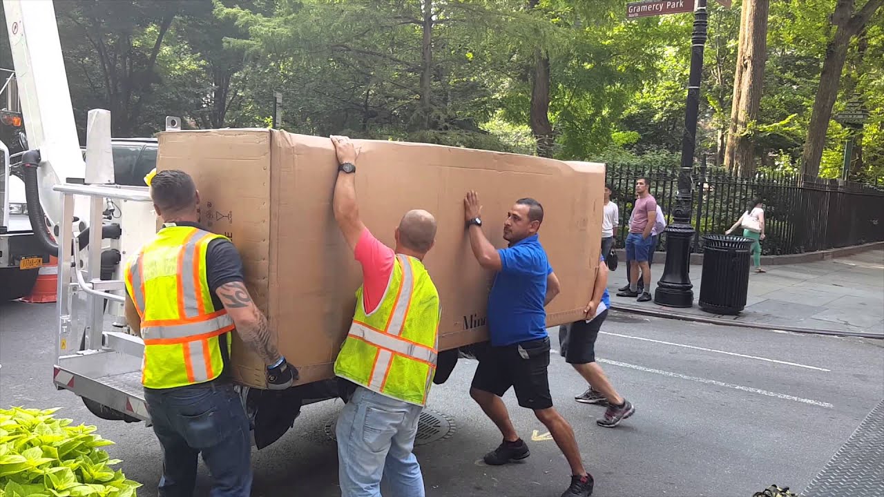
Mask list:
[[[651,181],[651,193],[672,222],[678,190],[678,166],[608,164],[606,184],[620,207],[617,246],[629,233],[636,179]],[[822,180],[786,172],[758,172],[735,177],[724,169],[697,165],[692,174],[694,205],[691,225],[697,231],[692,250],[702,250],[704,234],[724,233],[743,214],[746,204],[761,198],[765,206],[766,255],[800,254],[828,248],[884,241],[884,188],[850,181]],[[742,234],[737,230],[736,234]],[[660,237],[659,250],[664,250]]]

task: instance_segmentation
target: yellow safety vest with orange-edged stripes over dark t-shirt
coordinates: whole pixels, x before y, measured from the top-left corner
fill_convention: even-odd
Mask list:
[[[194,385],[224,369],[233,321],[215,309],[206,280],[209,242],[225,238],[192,226],[166,225],[126,264],[126,290],[141,317],[141,384]]]

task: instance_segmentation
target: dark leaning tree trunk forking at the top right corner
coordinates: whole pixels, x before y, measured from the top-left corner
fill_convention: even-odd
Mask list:
[[[872,18],[884,0],[869,0],[863,8],[853,13],[854,0],[838,0],[832,15],[834,37],[826,47],[826,58],[819,74],[819,88],[813,101],[811,122],[807,126],[804,139],[804,153],[801,157],[801,172],[810,177],[819,176],[819,161],[826,146],[826,133],[832,119],[832,106],[838,96],[838,87],[850,39],[856,36]]]

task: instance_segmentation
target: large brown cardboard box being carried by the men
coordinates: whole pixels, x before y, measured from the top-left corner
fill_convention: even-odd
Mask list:
[[[356,195],[365,225],[393,246],[410,209],[429,210],[437,241],[424,263],[442,305],[439,348],[487,339],[485,307],[493,274],[476,262],[465,229],[463,197],[475,189],[484,232],[499,248],[507,210],[521,197],[544,205],[540,241],[561,282],[547,325],[581,317],[600,251],[603,164],[569,163],[474,149],[354,140]],[[331,140],[268,129],[159,134],[157,170],[190,173],[200,191],[202,224],[240,250],[247,286],[269,317],[280,351],[299,383],[332,378],[353,317],[359,264],[334,221],[338,174]],[[265,386],[263,363],[239,341],[236,378]]]

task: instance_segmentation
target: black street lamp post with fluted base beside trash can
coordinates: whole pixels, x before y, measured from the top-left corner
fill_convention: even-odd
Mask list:
[[[690,77],[688,101],[684,111],[682,135],[682,169],[678,175],[678,193],[675,195],[673,222],[666,228],[666,267],[657,282],[654,302],[667,307],[692,307],[694,287],[690,283],[690,243],[694,228],[690,226],[693,203],[694,150],[697,148],[697,113],[700,105],[700,80],[703,74],[703,49],[706,43],[708,13],[706,0],[697,0],[694,7],[694,31],[690,37]]]

